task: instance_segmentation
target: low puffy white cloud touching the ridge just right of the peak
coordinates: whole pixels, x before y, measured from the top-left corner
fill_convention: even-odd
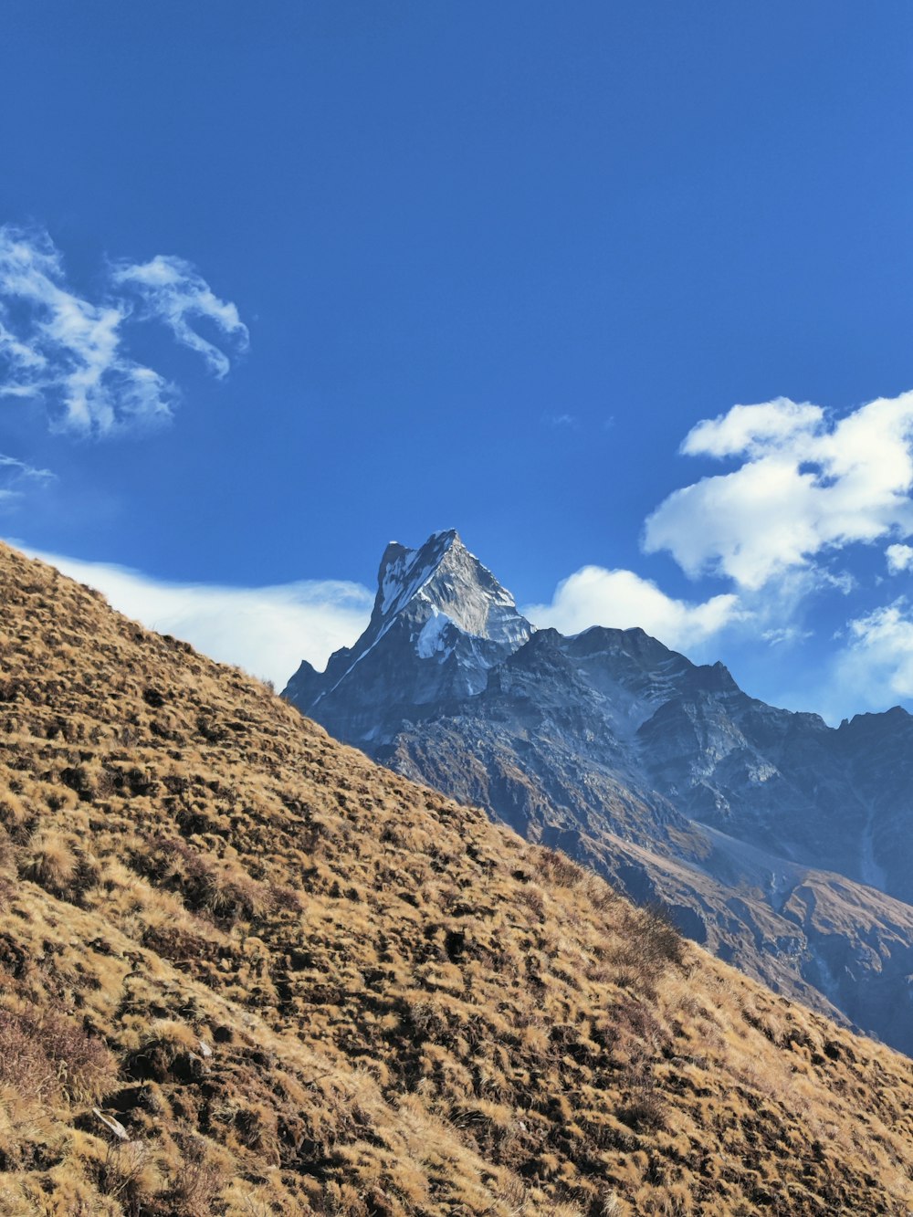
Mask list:
[[[562,634],[578,634],[590,626],[639,626],[667,646],[693,647],[740,619],[741,610],[734,595],[690,604],[667,596],[633,571],[584,566],[559,583],[550,605],[530,605],[523,615]]]

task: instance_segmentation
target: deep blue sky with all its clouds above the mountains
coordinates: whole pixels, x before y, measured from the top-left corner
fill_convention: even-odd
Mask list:
[[[10,0],[0,106],[4,535],[276,680],[456,527],[913,705],[906,0]]]

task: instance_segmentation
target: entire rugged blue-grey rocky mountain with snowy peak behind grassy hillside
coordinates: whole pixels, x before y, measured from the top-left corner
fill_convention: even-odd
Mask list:
[[[909,714],[833,729],[640,629],[533,630],[453,532],[391,553],[397,573],[385,556],[351,652],[365,666],[338,652],[324,674],[303,667],[286,689],[302,712],[663,902],[775,991],[913,1053]],[[407,574],[416,567],[426,582]],[[452,568],[463,578],[444,600],[437,572]],[[509,630],[489,636],[486,599]],[[441,650],[424,643],[435,612],[449,623]],[[458,654],[484,656],[463,660],[471,680],[455,678]]]

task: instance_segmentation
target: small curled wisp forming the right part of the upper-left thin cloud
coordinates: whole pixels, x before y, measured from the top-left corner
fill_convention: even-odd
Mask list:
[[[231,366],[228,355],[203,338],[187,319],[209,320],[240,349],[247,348],[247,326],[241,321],[237,308],[219,299],[206,280],[183,258],[158,254],[142,265],[121,263],[113,268],[111,281],[116,287],[135,291],[145,303],[147,314],[161,318],[178,342],[201,354],[209,371],[219,378],[226,376]]]

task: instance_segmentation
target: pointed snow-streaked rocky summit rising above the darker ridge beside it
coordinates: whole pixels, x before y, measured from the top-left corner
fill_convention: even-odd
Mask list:
[[[454,529],[433,533],[420,549],[391,542],[368,629],[323,673],[302,661],[285,696],[319,706],[341,739],[388,744],[404,718],[482,692],[488,672],[531,634],[514,598]],[[396,700],[387,705],[390,696]]]

